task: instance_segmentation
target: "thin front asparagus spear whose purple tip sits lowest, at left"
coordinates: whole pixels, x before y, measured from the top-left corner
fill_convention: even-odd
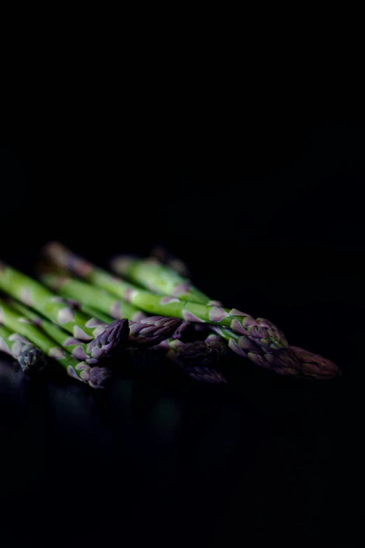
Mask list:
[[[2,299],[0,299],[0,321],[11,330],[27,337],[47,356],[57,360],[73,379],[83,381],[92,388],[103,388],[110,379],[111,372],[107,367],[90,367],[85,361],[79,362],[71,354],[57,346],[57,343],[48,337],[45,332],[35,325],[22,322],[17,311]]]

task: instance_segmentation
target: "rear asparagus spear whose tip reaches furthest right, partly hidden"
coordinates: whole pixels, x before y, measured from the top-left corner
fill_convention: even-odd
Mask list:
[[[120,256],[113,260],[113,267],[115,272],[124,273],[131,280],[142,286],[148,286],[158,293],[165,293],[166,287],[169,286],[171,291],[169,294],[179,295],[181,300],[194,298],[198,302],[212,304],[209,297],[197,290],[188,279],[167,266],[157,265],[150,260],[131,260],[131,258],[124,260]],[[280,353],[268,352],[262,345],[257,344],[257,340],[253,337],[239,335],[224,327],[213,328],[213,330],[226,339],[229,348],[238,355],[250,358],[257,365],[279,374],[304,375],[317,379],[328,379],[340,374],[338,367],[330,360],[302,349],[297,351],[295,346],[290,346],[287,350],[283,349]]]

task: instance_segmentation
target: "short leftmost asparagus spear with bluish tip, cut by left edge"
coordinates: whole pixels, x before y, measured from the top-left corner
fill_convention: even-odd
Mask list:
[[[13,356],[29,377],[40,373],[47,365],[41,349],[36,348],[19,333],[11,332],[4,325],[0,325],[0,350]]]

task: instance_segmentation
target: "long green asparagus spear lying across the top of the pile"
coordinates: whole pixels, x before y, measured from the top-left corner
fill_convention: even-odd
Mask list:
[[[112,276],[108,272],[94,267],[90,262],[79,258],[61,244],[50,244],[45,249],[46,255],[55,264],[74,272],[80,278],[86,279],[94,285],[110,291],[121,299],[134,304],[150,314],[176,316],[185,321],[197,321],[229,327],[255,339],[255,342],[269,351],[287,349],[287,340],[284,334],[272,323],[264,318],[255,320],[252,316],[237,309],[224,309],[208,304],[183,301],[177,297],[162,297],[154,293],[141,290],[131,283]]]

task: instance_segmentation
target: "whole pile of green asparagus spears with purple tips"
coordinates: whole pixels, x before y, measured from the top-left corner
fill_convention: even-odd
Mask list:
[[[48,244],[44,255],[42,283],[0,263],[0,290],[6,294],[0,297],[0,350],[17,358],[27,374],[41,370],[46,355],[71,377],[101,388],[112,372],[99,360],[133,346],[140,349],[134,360],[164,354],[205,382],[225,382],[217,363],[230,350],[279,374],[340,374],[331,361],[289,346],[270,321],[210,300],[184,277],[183,262],[161,250],[148,259],[115,258],[113,269],[128,281],[62,244]]]

